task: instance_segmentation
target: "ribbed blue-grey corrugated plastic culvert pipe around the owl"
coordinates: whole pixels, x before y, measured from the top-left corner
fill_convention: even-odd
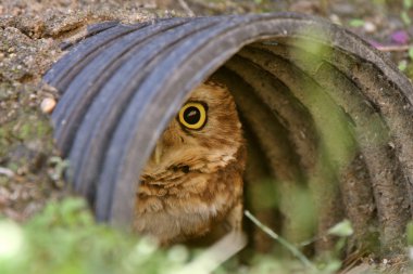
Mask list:
[[[132,182],[190,91],[212,77],[233,92],[247,131],[247,185],[268,175],[278,182],[286,225],[295,225],[293,190],[308,187],[321,234],[348,218],[359,247],[378,240],[388,253],[404,245],[413,89],[365,41],[291,13],[90,30],[43,79],[61,92],[52,120],[71,161],[67,180],[100,221],[132,224]]]

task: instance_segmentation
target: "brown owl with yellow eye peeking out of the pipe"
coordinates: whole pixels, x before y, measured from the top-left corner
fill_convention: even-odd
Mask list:
[[[195,89],[141,172],[134,229],[162,245],[240,232],[245,143],[228,89]]]

